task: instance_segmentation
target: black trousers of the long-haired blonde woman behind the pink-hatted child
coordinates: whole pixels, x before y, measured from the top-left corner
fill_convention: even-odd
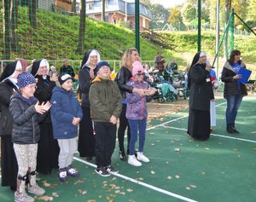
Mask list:
[[[131,130],[130,130],[130,125],[128,122],[128,119],[125,116],[126,113],[126,105],[123,104],[122,107],[122,113],[119,117],[119,130],[118,130],[118,137],[119,137],[119,151],[125,153],[125,146],[124,146],[124,141],[125,141],[125,130],[127,129],[127,153],[129,153],[129,146],[130,146],[130,140],[131,140]]]

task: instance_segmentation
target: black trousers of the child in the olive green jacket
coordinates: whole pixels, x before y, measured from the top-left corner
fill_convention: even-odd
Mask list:
[[[111,157],[115,147],[116,124],[109,122],[95,122],[96,130],[96,165],[97,168],[111,164]]]

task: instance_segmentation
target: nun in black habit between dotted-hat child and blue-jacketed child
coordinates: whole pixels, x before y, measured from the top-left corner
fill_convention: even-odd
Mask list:
[[[34,61],[32,64],[32,75],[38,80],[35,97],[41,103],[50,101],[52,89],[55,87],[57,77],[49,77],[49,62],[45,59]],[[58,155],[60,148],[58,141],[53,138],[50,112],[40,126],[40,141],[38,142],[37,171],[49,174],[52,168],[58,168]]]

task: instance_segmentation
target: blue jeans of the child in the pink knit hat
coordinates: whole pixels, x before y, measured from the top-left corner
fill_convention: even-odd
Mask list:
[[[130,128],[131,128],[131,140],[130,140],[130,147],[129,147],[129,155],[134,155],[135,144],[137,142],[137,133],[139,134],[138,152],[142,153],[144,143],[145,143],[147,118],[144,118],[142,120],[128,119],[128,121],[129,121]]]

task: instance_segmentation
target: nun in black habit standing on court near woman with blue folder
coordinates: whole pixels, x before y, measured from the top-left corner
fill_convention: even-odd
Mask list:
[[[207,140],[211,133],[210,101],[213,97],[207,54],[198,52],[189,69],[189,136]]]

